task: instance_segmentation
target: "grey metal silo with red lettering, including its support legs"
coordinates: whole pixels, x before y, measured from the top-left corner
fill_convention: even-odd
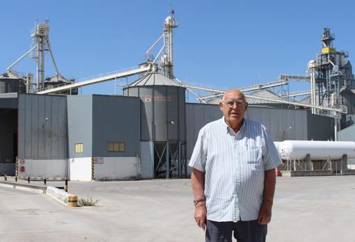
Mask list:
[[[141,141],[154,143],[155,177],[171,177],[174,171],[180,177],[186,144],[185,88],[163,74],[148,73],[123,88],[123,95],[141,98]]]

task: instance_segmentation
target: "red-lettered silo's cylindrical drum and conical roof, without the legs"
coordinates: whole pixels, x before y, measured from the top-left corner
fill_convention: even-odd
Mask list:
[[[159,73],[149,73],[123,88],[141,98],[141,140],[185,140],[185,88]]]

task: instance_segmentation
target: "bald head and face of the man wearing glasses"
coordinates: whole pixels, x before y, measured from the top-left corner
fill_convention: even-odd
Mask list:
[[[229,105],[229,106],[228,106]],[[248,109],[248,103],[239,90],[229,90],[224,95],[223,102],[219,104],[224,118],[228,124],[235,126],[240,124],[244,118],[244,113]]]

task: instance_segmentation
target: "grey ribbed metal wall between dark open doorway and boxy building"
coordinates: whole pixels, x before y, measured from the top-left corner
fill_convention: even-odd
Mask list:
[[[18,125],[20,158],[66,159],[66,97],[19,94]]]

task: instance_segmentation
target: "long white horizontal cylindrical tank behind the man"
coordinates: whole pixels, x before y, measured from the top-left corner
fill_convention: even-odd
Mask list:
[[[282,159],[304,159],[310,154],[312,160],[355,158],[355,142],[351,141],[308,141],[285,140],[281,143],[279,154]]]

